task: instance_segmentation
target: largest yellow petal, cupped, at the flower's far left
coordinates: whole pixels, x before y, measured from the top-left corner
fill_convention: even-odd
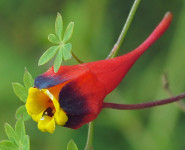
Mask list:
[[[29,94],[26,102],[26,109],[29,115],[32,114],[40,114],[40,112],[44,111],[50,101],[49,97],[45,95],[42,91],[37,88],[30,88]]]

